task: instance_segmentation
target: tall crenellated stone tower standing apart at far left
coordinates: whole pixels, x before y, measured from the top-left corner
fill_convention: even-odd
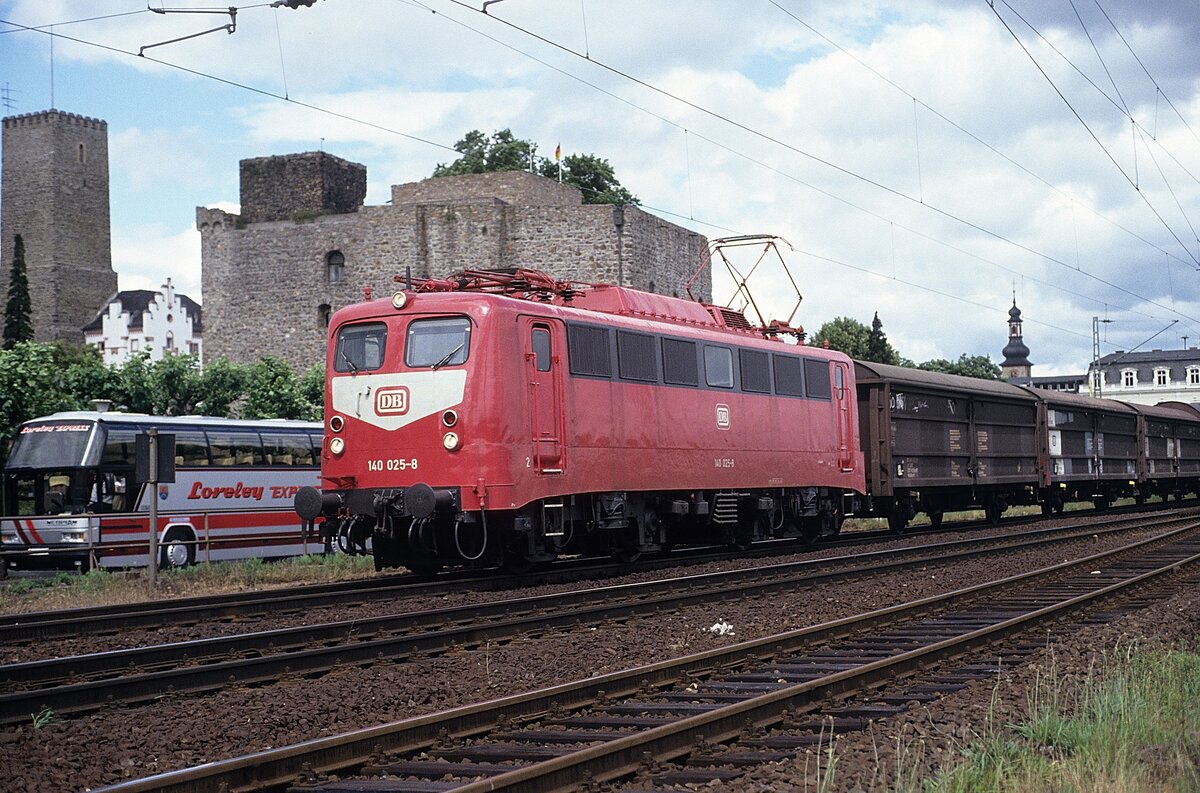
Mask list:
[[[0,295],[20,234],[35,341],[82,343],[83,326],[116,292],[108,124],[61,110],[4,119],[0,202]]]

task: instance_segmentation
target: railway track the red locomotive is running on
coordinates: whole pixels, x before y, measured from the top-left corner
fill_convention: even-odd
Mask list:
[[[1171,517],[1186,515],[1190,510],[1157,511],[1153,515]],[[1114,525],[1141,519],[1138,515],[1110,516],[1097,519],[1087,516],[1074,525]],[[1006,522],[1008,527],[1021,525],[1025,519]],[[942,528],[910,528],[905,536],[923,534],[943,534],[948,530],[970,530],[979,524],[961,524]],[[881,541],[895,540],[896,535],[888,530],[868,530],[847,533],[839,537],[822,540],[817,549],[854,548]],[[800,545],[796,540],[767,541],[756,545],[749,552],[739,553],[739,559],[760,559],[778,555],[782,552],[796,552]],[[518,587],[536,587],[546,584],[564,584],[580,581],[598,579],[629,573],[632,571],[670,570],[685,565],[724,561],[730,558],[728,549],[686,548],[672,552],[656,559],[643,559],[637,564],[613,563],[598,559],[569,559],[553,565],[551,570],[520,576],[502,575],[496,570],[487,571],[448,571],[432,581],[419,579],[410,575],[382,576],[349,582],[328,584],[308,584],[292,587],[287,590],[270,589],[253,593],[229,593],[204,597],[175,597],[168,601],[143,601],[116,606],[97,606],[86,608],[30,612],[19,614],[0,614],[0,647],[48,642],[83,636],[113,635],[130,630],[150,630],[174,626],[204,625],[211,623],[233,623],[272,614],[304,613],[326,606],[347,606],[398,600],[402,597],[422,597],[440,595],[448,587],[478,590],[504,591]]]

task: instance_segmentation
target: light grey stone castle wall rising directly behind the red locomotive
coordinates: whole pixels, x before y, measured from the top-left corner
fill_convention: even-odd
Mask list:
[[[634,206],[622,216],[611,205],[584,205],[578,190],[520,172],[397,185],[390,206],[299,220],[247,222],[199,208],[197,228],[206,358],[270,354],[298,370],[324,361],[323,307],[356,302],[365,287],[376,298],[389,295],[406,268],[414,278],[532,268],[560,280],[653,284],[684,295],[708,245]],[[336,283],[326,268],[334,251],[344,257]],[[709,298],[707,272],[692,292]]]

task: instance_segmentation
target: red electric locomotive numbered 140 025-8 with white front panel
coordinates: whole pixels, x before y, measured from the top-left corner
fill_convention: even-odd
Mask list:
[[[853,364],[790,330],[520,270],[349,306],[296,511],[424,573],[836,533],[864,491]]]

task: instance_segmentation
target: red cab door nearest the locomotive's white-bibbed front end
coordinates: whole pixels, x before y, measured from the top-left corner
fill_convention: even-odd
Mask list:
[[[563,437],[563,332],[562,323],[526,318],[526,376],[529,382],[529,433],[532,463],[539,474],[562,474],[565,468]]]

